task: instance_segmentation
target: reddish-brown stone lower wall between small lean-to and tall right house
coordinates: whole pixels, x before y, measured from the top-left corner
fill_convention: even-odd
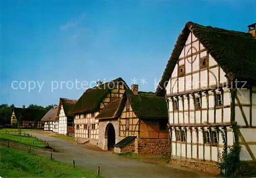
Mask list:
[[[136,139],[135,152],[145,156],[167,156],[169,151],[169,139]]]

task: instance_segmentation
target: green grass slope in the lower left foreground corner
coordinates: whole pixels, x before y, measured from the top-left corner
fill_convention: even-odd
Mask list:
[[[0,147],[2,177],[99,177],[86,169],[12,148]]]

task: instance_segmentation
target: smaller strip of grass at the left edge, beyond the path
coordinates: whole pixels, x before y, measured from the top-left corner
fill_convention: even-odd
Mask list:
[[[6,131],[9,131],[9,134],[6,134]],[[28,137],[24,135],[24,132],[33,131],[33,130],[22,130],[21,135],[18,135],[17,129],[0,129],[0,139],[6,141],[12,141],[20,144],[25,144],[29,146],[37,146],[40,148],[45,148],[46,145],[44,142],[37,141],[34,137]],[[34,141],[34,144],[33,144]]]

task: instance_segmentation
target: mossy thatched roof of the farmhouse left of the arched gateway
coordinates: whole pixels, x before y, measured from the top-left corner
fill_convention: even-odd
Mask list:
[[[103,98],[108,95],[114,85],[122,83],[124,88],[128,91],[129,87],[122,80],[122,78],[115,79],[110,82],[99,85],[98,87],[90,88],[86,90],[82,96],[77,100],[76,104],[73,106],[70,114],[83,113],[96,111],[103,100]],[[130,90],[130,89],[129,89]]]

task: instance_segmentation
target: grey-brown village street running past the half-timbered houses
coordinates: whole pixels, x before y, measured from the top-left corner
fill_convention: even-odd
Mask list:
[[[74,142],[51,137],[46,132],[29,132],[37,138],[46,140],[56,152],[52,157],[55,160],[80,166],[94,172],[100,166],[100,174],[104,177],[210,177],[199,171],[189,170],[179,166],[159,165],[154,162],[145,162],[127,158],[107,151],[93,150]],[[49,152],[38,152],[41,156],[49,157]]]

